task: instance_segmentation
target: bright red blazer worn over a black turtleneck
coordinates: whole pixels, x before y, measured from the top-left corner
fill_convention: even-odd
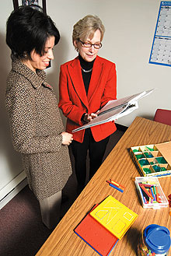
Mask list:
[[[84,113],[96,113],[109,100],[117,97],[117,75],[115,64],[105,58],[96,57],[92,68],[89,91],[82,79],[79,58],[61,65],[59,78],[59,104],[65,117],[67,117],[66,132],[82,126],[81,117]],[[92,136],[96,142],[105,139],[116,131],[114,122],[99,124],[91,128]],[[75,141],[82,142],[85,130],[74,132]]]

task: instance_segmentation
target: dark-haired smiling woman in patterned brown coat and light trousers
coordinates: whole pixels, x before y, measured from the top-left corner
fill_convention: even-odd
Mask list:
[[[21,153],[30,189],[40,202],[44,224],[54,228],[60,218],[61,190],[72,167],[68,145],[52,86],[47,83],[49,61],[60,34],[51,18],[29,6],[12,12],[6,43],[12,50],[12,69],[6,88],[6,107],[14,149]]]

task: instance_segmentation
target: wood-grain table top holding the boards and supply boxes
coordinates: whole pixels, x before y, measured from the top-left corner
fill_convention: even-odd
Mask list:
[[[86,212],[96,203],[101,202],[107,195],[122,202],[138,214],[131,228],[111,252],[117,256],[136,255],[138,235],[149,224],[155,223],[166,226],[171,231],[169,208],[143,209],[134,185],[134,177],[140,176],[127,149],[131,146],[161,143],[171,140],[171,126],[136,117],[124,133],[120,141],[107,156],[102,166],[89,181],[84,191],[75,200],[51,236],[38,251],[37,256],[96,256],[98,255],[75,233],[75,226],[86,216]],[[111,188],[106,180],[120,182],[125,186],[124,193]],[[159,179],[166,197],[171,193],[171,177]],[[171,250],[169,251],[171,255]]]

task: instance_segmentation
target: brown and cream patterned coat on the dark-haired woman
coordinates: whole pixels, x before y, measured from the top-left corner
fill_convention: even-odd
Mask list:
[[[38,200],[64,188],[72,174],[64,126],[46,73],[37,74],[16,58],[7,78],[6,107],[14,149],[21,153],[30,189]]]

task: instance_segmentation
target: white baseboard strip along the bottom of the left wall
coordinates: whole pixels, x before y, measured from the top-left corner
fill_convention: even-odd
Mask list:
[[[2,209],[19,191],[27,185],[26,174],[23,171],[0,191],[0,209]]]

